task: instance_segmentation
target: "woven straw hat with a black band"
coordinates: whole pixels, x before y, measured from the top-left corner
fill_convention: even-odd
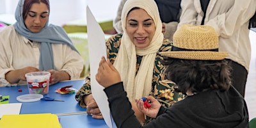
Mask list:
[[[163,56],[185,60],[223,60],[227,52],[219,52],[219,38],[211,26],[183,25],[173,35],[172,51]]]

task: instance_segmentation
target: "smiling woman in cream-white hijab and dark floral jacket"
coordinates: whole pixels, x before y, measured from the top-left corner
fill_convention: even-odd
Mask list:
[[[184,98],[174,91],[175,84],[164,79],[164,67],[159,52],[170,51],[172,43],[164,40],[162,22],[154,1],[129,0],[122,10],[123,34],[113,35],[106,42],[108,58],[116,67],[137,118],[145,122],[143,113],[136,111],[134,99],[154,96],[164,107]],[[90,80],[89,77],[86,77]],[[102,118],[90,91],[90,81],[77,92],[76,100],[87,107],[93,118]],[[147,119],[147,121],[149,118]]]

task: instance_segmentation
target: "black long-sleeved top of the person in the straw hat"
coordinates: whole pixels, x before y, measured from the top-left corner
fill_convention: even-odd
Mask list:
[[[188,96],[168,109],[161,107],[156,120],[144,126],[134,116],[123,83],[109,86],[104,92],[117,127],[248,127],[246,102],[233,86],[227,92],[209,90]]]

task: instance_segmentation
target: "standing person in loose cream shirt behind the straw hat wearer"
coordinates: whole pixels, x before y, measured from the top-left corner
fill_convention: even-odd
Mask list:
[[[243,97],[251,60],[248,26],[256,12],[255,5],[256,0],[188,0],[180,3],[182,13],[177,29],[183,24],[193,24],[212,26],[216,30],[219,49],[227,51],[225,59],[231,61],[232,85]]]

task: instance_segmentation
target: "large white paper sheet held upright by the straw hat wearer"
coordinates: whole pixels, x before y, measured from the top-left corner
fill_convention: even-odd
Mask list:
[[[86,19],[92,95],[97,102],[108,127],[116,127],[109,110],[108,97],[103,91],[104,87],[100,86],[95,79],[101,57],[105,56],[106,58],[107,56],[105,36],[88,6],[86,7]]]

